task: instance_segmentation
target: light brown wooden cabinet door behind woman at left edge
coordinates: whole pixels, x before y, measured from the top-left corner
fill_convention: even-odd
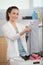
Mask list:
[[[0,62],[7,62],[6,60],[7,43],[3,36],[0,36]]]

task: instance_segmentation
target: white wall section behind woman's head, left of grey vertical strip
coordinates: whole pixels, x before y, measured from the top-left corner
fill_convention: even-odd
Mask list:
[[[18,6],[20,9],[29,8],[29,0],[0,0],[0,9],[7,9],[9,6]]]

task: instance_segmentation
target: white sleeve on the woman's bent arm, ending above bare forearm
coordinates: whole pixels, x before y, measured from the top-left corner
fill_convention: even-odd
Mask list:
[[[17,33],[17,34],[12,34],[11,32],[12,32],[12,30],[11,30],[11,32],[8,30],[8,29],[6,29],[6,28],[2,28],[2,32],[3,32],[3,35],[6,37],[6,38],[8,38],[8,39],[11,39],[11,40],[16,40],[16,39],[18,39],[19,37],[20,37],[20,34],[19,33]]]

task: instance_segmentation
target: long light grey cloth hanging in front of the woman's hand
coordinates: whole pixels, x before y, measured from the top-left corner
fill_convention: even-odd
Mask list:
[[[27,34],[27,44],[28,44],[28,51],[29,54],[38,53],[39,52],[39,28],[38,28],[38,21],[33,20],[30,23],[31,31]]]

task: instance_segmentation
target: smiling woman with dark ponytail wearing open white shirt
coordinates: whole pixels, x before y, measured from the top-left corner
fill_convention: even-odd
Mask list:
[[[24,27],[21,23],[17,22],[19,16],[19,9],[16,6],[9,7],[6,11],[7,23],[2,27],[4,36],[6,37],[8,48],[7,48],[7,59],[21,58],[18,49],[18,39],[22,41],[24,50],[27,52],[27,44],[25,40],[25,33],[30,31],[30,27]],[[18,29],[18,33],[16,30]],[[22,58],[21,58],[22,59]]]

